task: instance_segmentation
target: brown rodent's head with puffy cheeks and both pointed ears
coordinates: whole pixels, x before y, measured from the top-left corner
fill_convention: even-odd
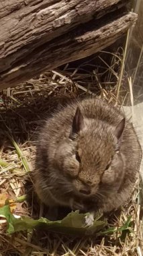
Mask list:
[[[100,187],[118,187],[124,170],[120,143],[125,119],[117,127],[83,117],[77,107],[69,138],[56,149],[55,164],[83,198],[95,195]]]

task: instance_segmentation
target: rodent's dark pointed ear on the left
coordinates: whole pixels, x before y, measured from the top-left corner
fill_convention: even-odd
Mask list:
[[[79,131],[81,131],[84,128],[84,126],[85,124],[83,120],[83,114],[81,113],[81,110],[78,106],[75,113],[75,117],[73,118],[73,124],[70,135],[79,133]]]

